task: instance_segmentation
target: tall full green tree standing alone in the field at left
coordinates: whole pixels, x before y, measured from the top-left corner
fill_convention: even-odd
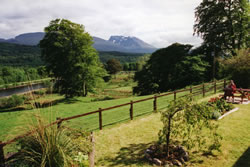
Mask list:
[[[102,68],[92,37],[83,25],[52,20],[40,41],[42,59],[56,78],[55,87],[66,97],[86,96],[102,80]]]

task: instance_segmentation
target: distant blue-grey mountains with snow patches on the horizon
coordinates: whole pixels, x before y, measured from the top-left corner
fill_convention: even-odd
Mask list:
[[[43,39],[44,32],[25,33],[11,39],[0,38],[0,42],[21,45],[37,45]],[[157,48],[136,37],[111,36],[109,40],[93,37],[94,48],[98,51],[117,51],[127,53],[152,53]]]

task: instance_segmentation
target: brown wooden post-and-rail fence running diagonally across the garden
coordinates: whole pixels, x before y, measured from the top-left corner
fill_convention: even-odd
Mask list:
[[[172,100],[176,100],[178,94],[180,94],[179,97],[184,97],[184,96],[187,96],[189,94],[192,94],[193,96],[202,95],[203,97],[205,97],[206,93],[211,92],[211,91],[213,91],[213,93],[216,93],[217,90],[225,88],[226,84],[227,84],[226,80],[213,81],[213,82],[209,82],[209,83],[202,84],[199,86],[194,86],[194,87],[191,86],[190,88],[185,88],[185,89],[181,89],[181,90],[177,90],[177,91],[173,91],[173,92],[168,92],[168,93],[164,93],[164,94],[158,94],[158,95],[154,95],[152,97],[148,97],[148,98],[144,98],[144,99],[140,99],[140,100],[135,100],[135,101],[130,101],[128,103],[124,103],[124,104],[120,104],[120,105],[116,105],[116,106],[112,106],[112,107],[99,108],[96,111],[92,111],[92,112],[88,112],[88,113],[83,113],[83,114],[79,114],[79,115],[75,115],[75,116],[71,116],[71,117],[66,117],[66,118],[57,118],[57,120],[55,122],[48,124],[46,127],[57,125],[57,127],[59,128],[61,126],[61,124],[65,121],[69,121],[69,120],[80,118],[80,117],[85,117],[88,115],[98,114],[99,129],[102,130],[102,128],[103,128],[103,112],[104,111],[128,106],[129,107],[129,113],[128,113],[129,118],[130,118],[130,120],[133,120],[134,116],[135,116],[134,115],[135,104],[153,100],[152,111],[156,111],[159,109],[159,107],[162,107],[159,105],[158,100],[160,100],[163,97],[173,95]],[[186,92],[186,94],[185,94],[185,92]],[[164,105],[166,106],[166,103],[164,103]],[[140,113],[138,115],[142,115],[142,114],[145,114],[145,113]],[[17,136],[9,141],[6,141],[6,142],[0,141],[0,167],[4,167],[4,162],[5,162],[4,147],[6,145],[9,145],[11,143],[16,142],[20,138],[23,138],[23,137],[30,135],[32,133],[34,133],[34,132],[30,131],[24,135]]]

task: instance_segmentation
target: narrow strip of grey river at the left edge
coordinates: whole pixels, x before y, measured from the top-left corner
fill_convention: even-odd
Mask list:
[[[38,84],[33,84],[32,86],[28,85],[28,86],[22,86],[22,87],[17,87],[17,88],[0,90],[0,97],[7,97],[7,96],[14,95],[14,94],[27,93],[27,92],[42,89],[42,88],[46,88],[46,86],[43,83],[38,83]]]

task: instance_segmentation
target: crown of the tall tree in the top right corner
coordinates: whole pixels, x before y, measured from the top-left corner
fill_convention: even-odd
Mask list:
[[[236,49],[249,46],[248,9],[247,0],[203,0],[195,9],[194,34],[213,48],[215,56],[235,56]]]

